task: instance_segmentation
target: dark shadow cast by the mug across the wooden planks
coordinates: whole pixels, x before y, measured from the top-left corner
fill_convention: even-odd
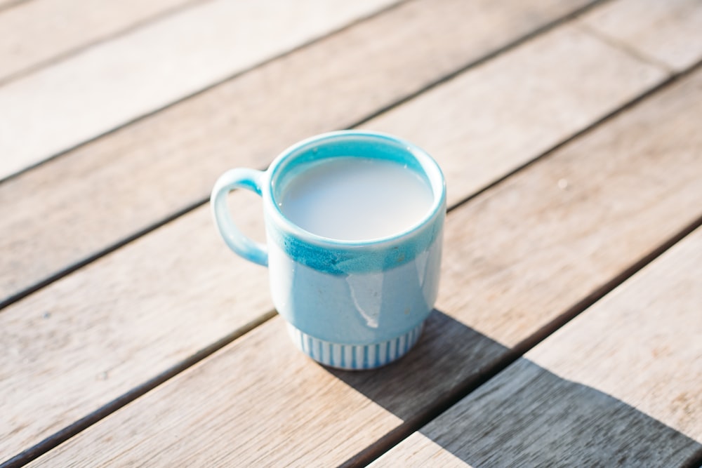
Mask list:
[[[329,372],[403,421],[343,466],[364,466],[416,431],[474,468],[702,462],[694,439],[439,311],[404,359],[378,370]]]

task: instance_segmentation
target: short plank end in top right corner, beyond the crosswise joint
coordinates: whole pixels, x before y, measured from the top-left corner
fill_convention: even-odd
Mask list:
[[[698,0],[613,1],[584,15],[585,25],[642,56],[682,70],[702,60]]]

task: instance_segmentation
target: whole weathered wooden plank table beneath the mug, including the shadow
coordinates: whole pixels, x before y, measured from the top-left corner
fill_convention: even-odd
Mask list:
[[[700,60],[699,0],[0,0],[1,466],[702,464]],[[207,201],[341,128],[449,189],[425,333],[359,373]]]

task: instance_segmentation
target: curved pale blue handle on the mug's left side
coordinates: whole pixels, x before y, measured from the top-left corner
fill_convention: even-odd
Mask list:
[[[217,179],[210,196],[210,204],[217,229],[227,246],[249,262],[267,267],[268,248],[265,244],[252,241],[239,231],[227,206],[227,194],[234,189],[246,189],[260,196],[263,175],[263,171],[255,169],[230,169]]]

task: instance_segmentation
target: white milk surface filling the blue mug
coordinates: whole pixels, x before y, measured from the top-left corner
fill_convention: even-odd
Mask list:
[[[432,201],[428,182],[399,163],[341,156],[303,168],[283,187],[279,206],[308,232],[360,241],[416,225]]]

